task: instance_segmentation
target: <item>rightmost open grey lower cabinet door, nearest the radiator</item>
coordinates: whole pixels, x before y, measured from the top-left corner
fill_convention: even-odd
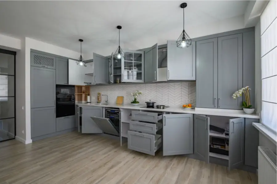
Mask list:
[[[244,118],[229,120],[229,170],[244,163]]]

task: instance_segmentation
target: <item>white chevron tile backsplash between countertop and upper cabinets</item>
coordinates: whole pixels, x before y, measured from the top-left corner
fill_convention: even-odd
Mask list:
[[[136,90],[142,92],[138,101],[143,105],[150,99],[157,102],[157,105],[179,106],[187,103],[187,100],[190,100],[193,106],[196,104],[195,82],[92,86],[90,89],[91,101],[96,102],[97,93],[100,92],[108,95],[109,103],[116,103],[117,96],[124,96],[124,103],[128,104],[133,100],[130,94]],[[106,97],[102,97],[102,102],[105,99]]]

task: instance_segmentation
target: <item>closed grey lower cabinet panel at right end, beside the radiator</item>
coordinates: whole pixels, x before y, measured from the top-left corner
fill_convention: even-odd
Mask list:
[[[259,122],[259,119],[245,118],[244,165],[258,168],[259,130],[252,122]]]

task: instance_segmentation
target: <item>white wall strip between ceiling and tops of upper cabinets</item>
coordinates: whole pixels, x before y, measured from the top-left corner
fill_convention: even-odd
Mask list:
[[[217,22],[203,24],[198,26],[185,25],[185,31],[190,38],[198,38],[202,36],[207,36],[210,34],[217,34],[231,30],[238,30],[244,28],[244,16],[233,17],[229,19],[220,20]],[[120,46],[122,48],[138,50],[142,48],[147,48],[158,43],[158,45],[166,44],[167,40],[176,40],[181,34],[181,29],[173,29],[168,32],[161,30],[154,35],[145,35],[143,39],[136,40],[135,42],[124,43],[121,42]],[[93,50],[91,53],[85,54],[84,58],[92,59],[93,52],[101,54],[104,56],[110,55],[112,52],[116,51],[116,46],[107,46],[104,49]]]

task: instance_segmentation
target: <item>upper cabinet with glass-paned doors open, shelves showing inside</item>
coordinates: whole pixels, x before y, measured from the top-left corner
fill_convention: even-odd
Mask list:
[[[124,58],[109,58],[109,83],[144,82],[144,52],[124,49]]]

